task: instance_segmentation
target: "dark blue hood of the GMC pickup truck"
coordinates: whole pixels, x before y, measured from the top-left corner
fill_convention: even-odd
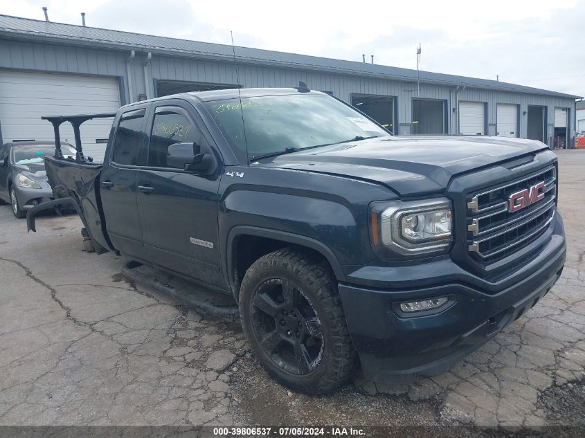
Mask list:
[[[442,192],[457,174],[543,149],[521,138],[392,136],[280,155],[262,165],[365,179],[408,195]]]

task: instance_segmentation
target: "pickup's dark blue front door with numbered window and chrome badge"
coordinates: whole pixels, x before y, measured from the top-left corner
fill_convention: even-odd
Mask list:
[[[217,237],[221,166],[212,175],[199,175],[172,167],[167,159],[183,154],[185,143],[196,143],[201,152],[213,154],[215,146],[201,126],[195,111],[180,100],[154,108],[147,166],[138,170],[136,181],[138,212],[150,262],[225,288]]]

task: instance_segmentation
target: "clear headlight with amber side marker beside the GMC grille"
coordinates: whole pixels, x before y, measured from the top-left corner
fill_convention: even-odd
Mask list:
[[[451,246],[449,199],[375,202],[370,206],[370,239],[382,258],[441,253]]]

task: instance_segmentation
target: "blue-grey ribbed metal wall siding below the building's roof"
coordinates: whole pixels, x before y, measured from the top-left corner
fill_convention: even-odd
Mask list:
[[[82,49],[6,39],[3,39],[2,44],[0,44],[0,68],[118,76],[122,78],[124,84],[128,83],[126,73],[128,56],[129,51]],[[145,54],[136,53],[136,58],[130,63],[134,84],[134,100],[138,98],[139,94],[145,93],[144,60]],[[455,95],[454,86],[427,83],[420,84],[420,94],[418,94],[415,80],[399,82],[379,77],[332,73],[330,71],[308,71],[289,66],[276,68],[242,64],[242,62],[244,61],[238,61],[237,73],[239,73],[240,83],[244,87],[289,87],[296,85],[299,80],[304,80],[313,89],[331,91],[336,97],[346,102],[350,102],[352,93],[393,96],[397,102],[399,124],[411,124],[413,98],[447,100],[449,102],[448,118],[450,122],[448,125],[450,131],[456,127],[456,120],[453,120],[451,108],[456,107],[457,102],[487,102],[488,125],[496,124],[498,103],[518,104],[520,107],[520,137],[526,136],[527,118],[523,112],[528,110],[528,105],[546,107],[549,121],[554,120],[555,107],[569,108],[575,111],[575,100],[559,96],[473,88],[465,88]],[[370,68],[370,66],[363,67]],[[195,60],[153,53],[148,68],[150,69],[149,80],[152,77],[154,80],[237,83],[235,64],[229,60]],[[127,88],[123,91],[125,94],[128,93]],[[573,136],[575,118],[571,118],[570,125],[570,135]]]

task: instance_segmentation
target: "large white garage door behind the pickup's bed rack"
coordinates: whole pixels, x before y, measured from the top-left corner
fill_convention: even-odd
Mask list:
[[[0,71],[0,123],[4,142],[53,140],[53,125],[41,116],[115,113],[120,107],[118,80],[111,77]],[[89,120],[81,125],[86,156],[101,161],[111,118]],[[73,128],[64,122],[61,139],[75,144]]]

